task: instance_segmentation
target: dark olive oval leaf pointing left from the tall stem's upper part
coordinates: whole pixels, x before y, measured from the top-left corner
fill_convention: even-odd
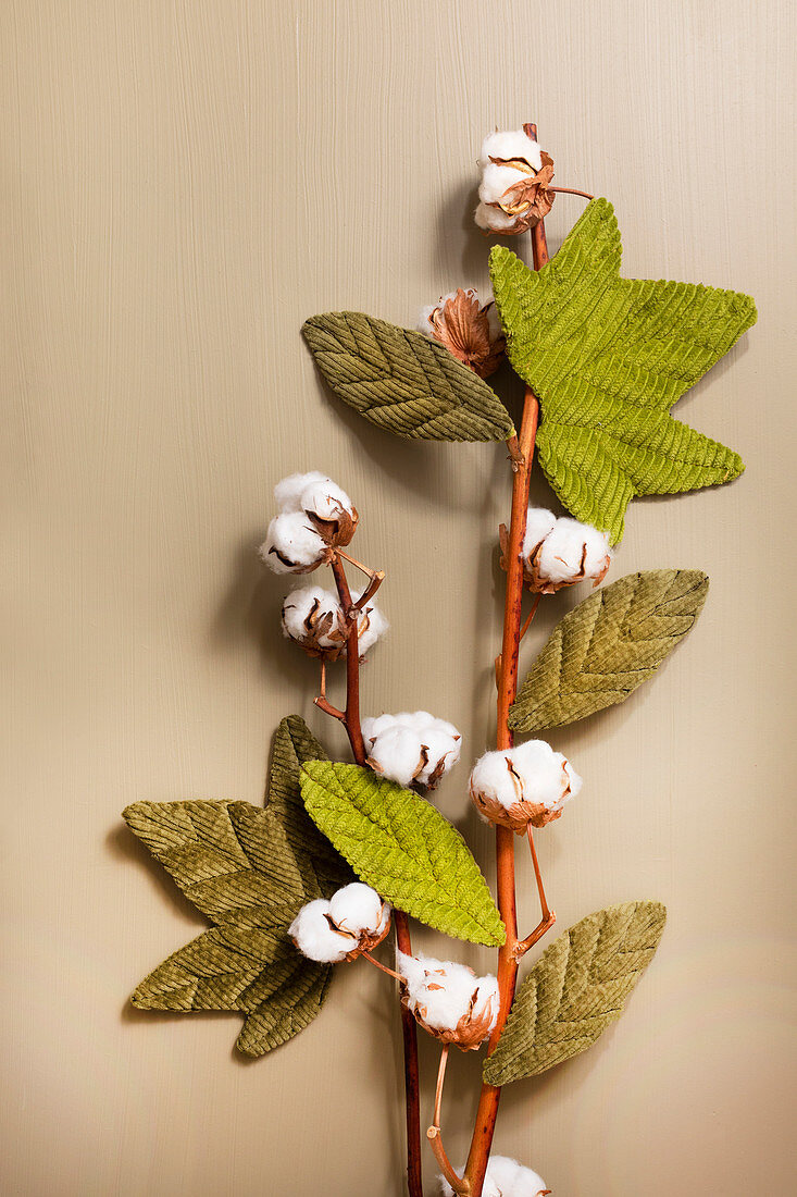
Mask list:
[[[377,427],[424,440],[506,440],[515,432],[487,383],[442,345],[360,311],[328,311],[302,327],[340,397]]]

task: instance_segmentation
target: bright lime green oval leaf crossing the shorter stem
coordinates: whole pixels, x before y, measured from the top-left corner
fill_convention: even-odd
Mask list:
[[[506,938],[462,836],[410,790],[359,765],[308,761],[302,796],[321,831],[387,901],[471,943]]]

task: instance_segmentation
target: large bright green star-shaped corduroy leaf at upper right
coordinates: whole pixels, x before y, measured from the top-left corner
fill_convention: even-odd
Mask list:
[[[621,279],[621,253],[603,199],[541,271],[505,247],[491,253],[509,359],[540,399],[540,463],[572,515],[613,543],[634,496],[742,473],[738,454],[669,411],[756,318],[750,297],[736,291]]]

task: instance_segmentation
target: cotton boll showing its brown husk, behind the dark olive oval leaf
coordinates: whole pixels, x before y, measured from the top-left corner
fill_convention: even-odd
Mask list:
[[[444,345],[480,378],[494,373],[504,358],[506,340],[495,303],[491,298],[482,304],[473,287],[460,287],[442,296],[439,303],[422,308],[418,330]]]

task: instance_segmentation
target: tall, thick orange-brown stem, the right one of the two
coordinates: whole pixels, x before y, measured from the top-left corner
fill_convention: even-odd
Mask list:
[[[536,124],[524,124],[523,128],[529,136],[536,140]],[[539,271],[548,262],[548,245],[542,220],[531,230],[531,249],[534,255],[534,267]],[[512,479],[512,515],[505,552],[506,597],[504,602],[504,637],[498,679],[497,747],[499,749],[511,748],[513,742],[512,733],[509,727],[509,711],[517,694],[517,662],[521,643],[521,604],[523,600],[523,560],[521,553],[523,539],[525,536],[530,472],[537,431],[539,411],[540,405],[536,396],[529,388],[527,388],[523,405],[523,419],[521,423],[521,435],[517,446],[518,454],[512,455],[512,468],[515,469]],[[516,456],[519,460],[516,460]],[[500,995],[500,1009],[498,1022],[487,1045],[488,1053],[494,1051],[512,1005],[518,967],[518,956],[516,955],[516,952],[521,943],[517,937],[517,911],[515,898],[515,834],[506,827],[495,828],[495,855],[498,865],[498,909],[506,926],[506,942],[498,953],[498,988]],[[539,879],[537,883],[540,887],[540,900],[542,903],[544,900],[544,893],[541,888],[541,879]],[[544,934],[542,930],[537,930],[540,931],[540,935]],[[535,931],[533,934],[537,932]],[[464,1174],[470,1197],[481,1197],[481,1190],[485,1183],[485,1172],[487,1169],[487,1161],[489,1159],[489,1150],[493,1141],[493,1132],[495,1130],[500,1093],[500,1088],[493,1084],[485,1083],[481,1087],[479,1110],[476,1112],[476,1125],[470,1141],[470,1152]]]

